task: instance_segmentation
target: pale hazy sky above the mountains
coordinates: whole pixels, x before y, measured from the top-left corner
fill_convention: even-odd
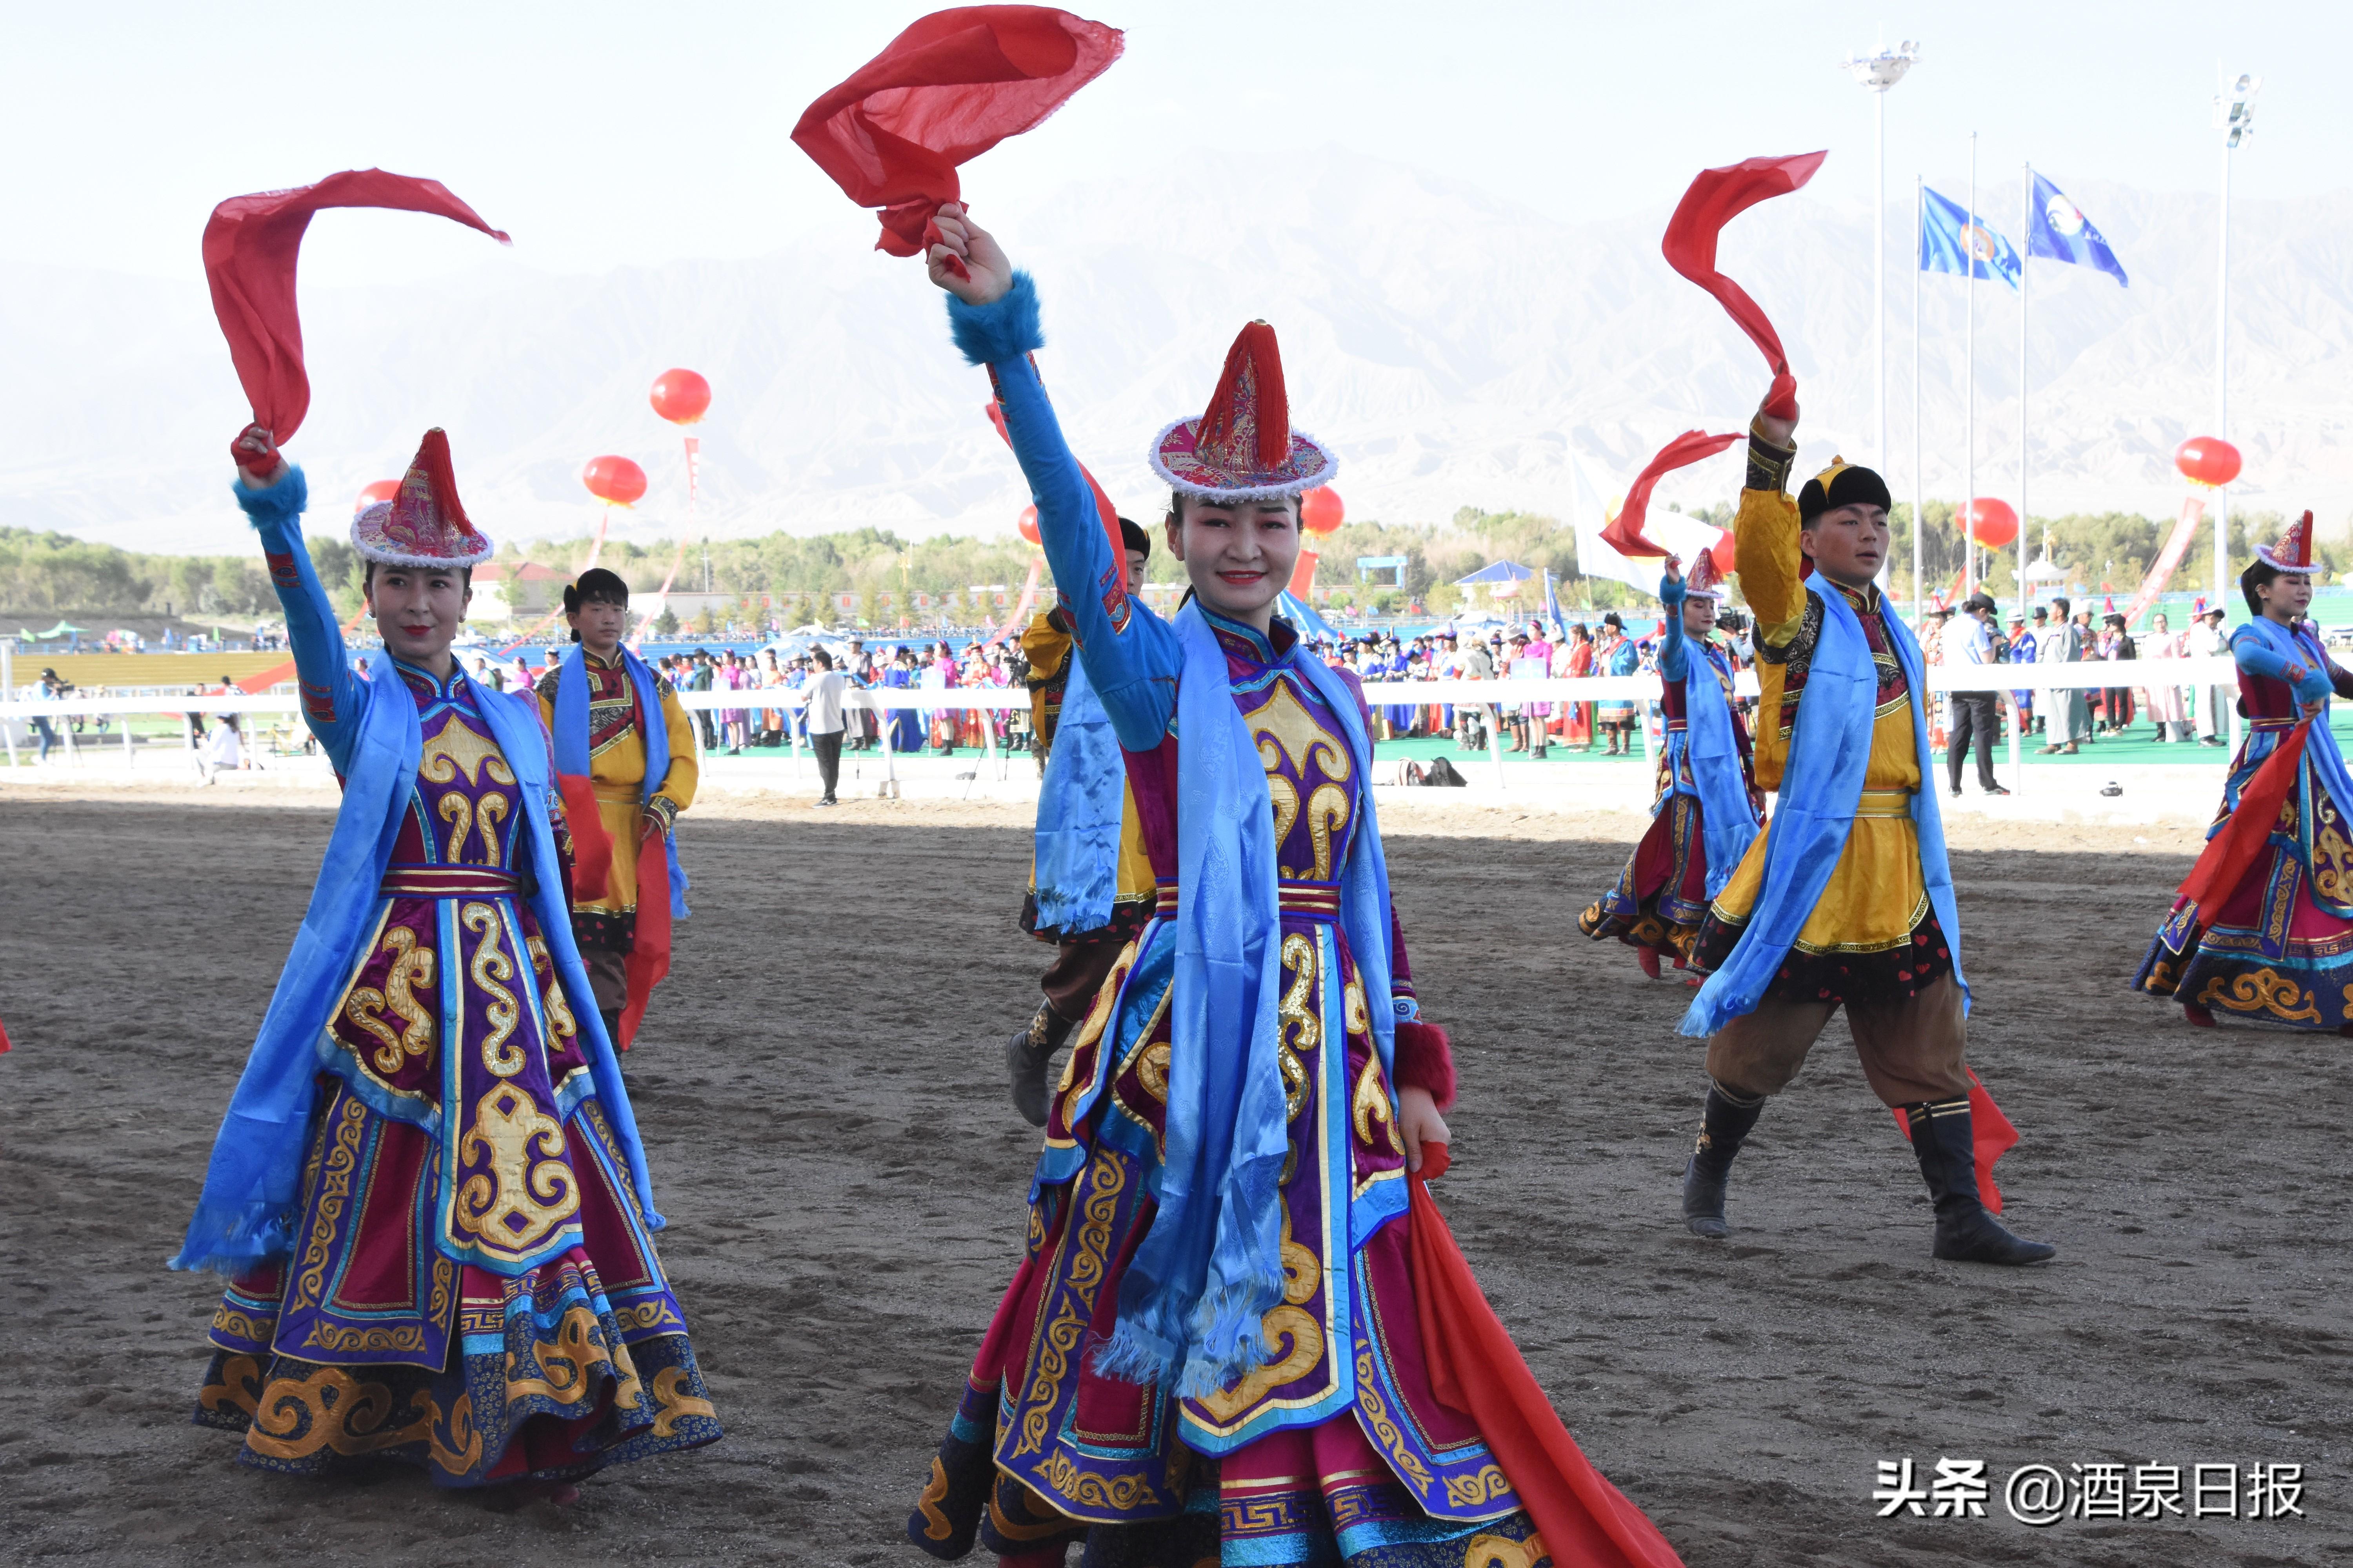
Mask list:
[[[925,9],[14,0],[0,61],[14,221],[0,226],[0,259],[195,277],[221,197],[367,165],[445,181],[515,235],[511,266],[753,256],[812,230],[871,244],[871,219],[788,134],[812,96]],[[1958,186],[1972,129],[1981,179],[2007,190],[2021,158],[2061,186],[2209,190],[2217,63],[2264,75],[2238,193],[2341,188],[2353,153],[2341,0],[1078,9],[1125,28],[1127,56],[1042,129],[965,169],[984,219],[1071,176],[1160,176],[1186,148],[1282,158],[1320,143],[1593,216],[1671,202],[1704,165],[1828,146],[1812,193],[1866,202],[1871,94],[1838,61],[1880,38],[1925,49],[1887,103],[1889,200],[1915,169]],[[304,277],[395,280],[492,256],[449,223],[325,214]]]

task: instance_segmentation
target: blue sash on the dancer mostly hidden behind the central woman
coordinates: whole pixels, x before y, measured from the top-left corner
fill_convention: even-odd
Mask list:
[[[1111,924],[1118,896],[1127,759],[1078,646],[1064,656],[1061,719],[1038,790],[1038,931],[1080,936]]]

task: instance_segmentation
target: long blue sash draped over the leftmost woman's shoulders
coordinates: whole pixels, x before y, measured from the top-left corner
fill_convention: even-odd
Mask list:
[[[188,1220],[188,1239],[172,1258],[174,1269],[242,1274],[259,1262],[289,1255],[294,1246],[318,1072],[334,1070],[341,1058],[327,1037],[327,1023],[374,931],[381,905],[376,889],[393,856],[393,839],[409,809],[416,762],[424,755],[416,701],[391,658],[376,663],[374,677],[360,691],[367,703],[344,771],[344,804],[318,867],[318,884],[311,889],[311,907],[304,912],[301,931],[294,933],[294,950],[278,976],[278,990],[261,1016],[261,1032],[245,1058],[245,1074],[212,1143],[205,1192]],[[565,999],[579,1020],[598,1100],[621,1143],[645,1222],[649,1229],[661,1229],[654,1185],[645,1173],[645,1150],[638,1143],[638,1119],[621,1086],[621,1065],[612,1041],[605,1039],[588,973],[572,943],[572,910],[565,907],[562,877],[553,875],[558,865],[555,830],[548,818],[553,780],[536,698],[529,693],[506,698],[487,686],[475,686],[475,698],[499,752],[515,771],[515,795],[529,823],[529,844],[522,853],[539,872],[529,893],[539,933],[548,943]]]

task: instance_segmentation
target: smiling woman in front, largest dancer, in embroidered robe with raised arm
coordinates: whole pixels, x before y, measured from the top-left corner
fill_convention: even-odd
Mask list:
[[[1407,1168],[1440,1159],[1454,1067],[1393,924],[1367,717],[1273,616],[1297,498],[1334,473],[1289,428],[1273,329],[1153,442],[1193,583],[1162,621],[1047,407],[1033,284],[958,207],[936,226],[932,280],[995,386],[1160,907],[1073,1041],[1026,1255],[908,1535],[1024,1568],[1073,1542],[1186,1568],[1673,1563],[1581,1458],[1544,1472],[1433,1392],[1409,1248],[1442,1225],[1409,1225]]]

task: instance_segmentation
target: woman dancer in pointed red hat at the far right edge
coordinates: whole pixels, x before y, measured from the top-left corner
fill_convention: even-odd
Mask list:
[[[2207,851],[2134,976],[2195,1025],[2231,1018],[2353,1034],[2353,778],[2329,696],[2353,698],[2304,618],[2313,515],[2238,578],[2254,621],[2231,632],[2247,741]]]

